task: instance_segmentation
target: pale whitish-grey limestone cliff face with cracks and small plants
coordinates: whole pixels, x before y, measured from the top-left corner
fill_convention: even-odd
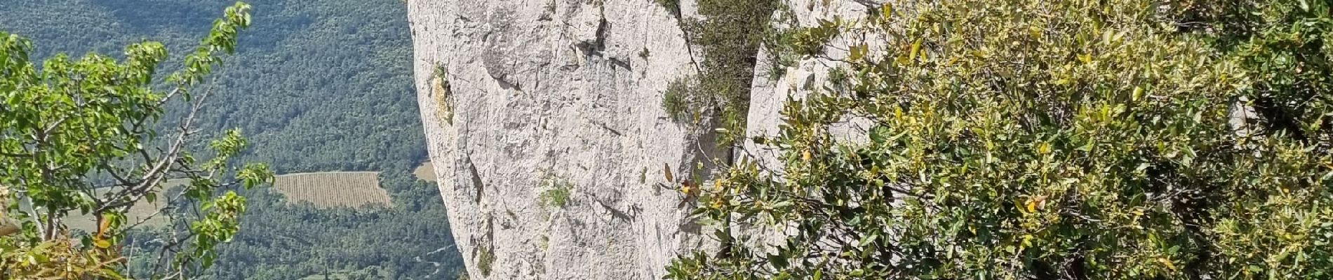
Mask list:
[[[725,158],[710,129],[661,109],[666,84],[696,73],[670,12],[649,0],[408,5],[428,150],[471,279],[661,279],[678,253],[712,245],[682,195],[657,187],[664,166],[680,178]],[[789,73],[757,74],[752,130],[776,131],[796,88],[782,85],[822,76]],[[551,186],[571,186],[565,206],[543,206]]]

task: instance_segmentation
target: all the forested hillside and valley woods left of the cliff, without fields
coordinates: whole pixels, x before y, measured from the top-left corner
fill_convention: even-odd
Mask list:
[[[120,53],[157,40],[173,60],[205,35],[228,0],[5,1],[0,31],[32,38],[35,58]],[[241,162],[275,171],[380,171],[392,208],[319,210],[249,194],[235,243],[215,279],[439,279],[461,260],[433,183],[412,169],[425,142],[411,80],[405,8],[396,0],[255,1],[253,27],[219,69],[204,139],[239,127],[253,149]],[[179,65],[179,64],[168,64]],[[168,69],[169,70],[169,69]],[[175,118],[164,118],[175,119]],[[168,123],[169,125],[169,123]]]

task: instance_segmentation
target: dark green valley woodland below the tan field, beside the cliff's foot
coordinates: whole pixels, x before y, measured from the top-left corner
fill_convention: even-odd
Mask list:
[[[400,175],[381,174],[381,184],[391,190],[437,187]],[[371,279],[443,279],[463,271],[439,194],[421,194],[423,199],[433,195],[431,204],[407,206],[409,200],[397,199],[392,208],[320,208],[275,192],[256,188],[247,194],[245,228],[219,251],[207,279],[301,279],[324,269],[384,275]],[[135,240],[144,247],[152,242]]]

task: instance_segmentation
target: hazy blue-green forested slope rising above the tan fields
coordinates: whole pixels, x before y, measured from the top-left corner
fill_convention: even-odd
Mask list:
[[[5,1],[0,31],[33,40],[35,57],[119,54],[157,40],[176,58],[233,0]],[[204,133],[240,127],[245,159],[279,173],[377,170],[425,161],[412,88],[407,11],[392,0],[252,1],[253,27],[219,81]],[[172,66],[168,64],[167,66]],[[172,119],[172,118],[165,118]]]

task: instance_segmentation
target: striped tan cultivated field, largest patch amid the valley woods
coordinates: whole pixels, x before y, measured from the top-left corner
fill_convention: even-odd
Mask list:
[[[380,187],[380,173],[300,173],[279,175],[273,182],[288,202],[319,207],[389,206],[389,192]]]

